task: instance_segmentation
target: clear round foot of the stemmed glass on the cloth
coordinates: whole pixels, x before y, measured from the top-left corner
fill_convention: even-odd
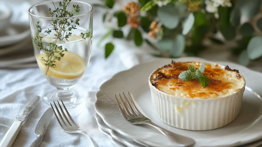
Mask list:
[[[48,105],[50,105],[50,103],[53,104],[53,101],[62,100],[65,106],[75,107],[84,101],[84,97],[79,96],[77,92],[72,90],[58,89],[57,91],[47,93],[47,95],[43,97],[43,100]]]

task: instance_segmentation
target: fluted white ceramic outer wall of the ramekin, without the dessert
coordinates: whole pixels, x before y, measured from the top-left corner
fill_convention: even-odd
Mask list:
[[[245,85],[228,96],[190,99],[156,89],[150,81],[154,72],[149,76],[152,104],[156,116],[170,126],[186,130],[212,130],[232,122],[240,112]]]

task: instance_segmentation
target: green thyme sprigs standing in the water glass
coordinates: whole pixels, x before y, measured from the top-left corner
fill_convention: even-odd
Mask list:
[[[67,51],[67,48],[64,48],[62,46],[58,46],[56,42],[68,42],[68,38],[72,36],[72,32],[70,32],[73,29],[77,29],[77,25],[79,26],[80,19],[77,18],[74,20],[74,18],[68,18],[73,17],[74,12],[79,12],[81,9],[79,5],[73,4],[72,11],[69,10],[71,0],[63,0],[62,2],[59,2],[58,6],[56,7],[54,2],[52,1],[52,4],[54,6],[54,10],[51,8],[48,9],[51,17],[52,17],[52,23],[50,23],[53,27],[48,30],[46,30],[44,33],[42,33],[42,28],[39,25],[39,21],[36,24],[37,32],[35,38],[33,38],[33,43],[40,48],[40,50],[43,50],[46,59],[41,58],[42,61],[45,62],[46,65],[46,72],[47,75],[48,69],[50,67],[56,68],[56,61],[60,61],[61,58],[64,56],[64,51]],[[59,19],[61,18],[61,19]],[[43,45],[42,39],[47,34],[50,35],[50,33],[54,31],[54,41],[51,43],[45,43]],[[80,34],[82,39],[86,39],[88,37],[92,36],[92,32],[85,32]]]

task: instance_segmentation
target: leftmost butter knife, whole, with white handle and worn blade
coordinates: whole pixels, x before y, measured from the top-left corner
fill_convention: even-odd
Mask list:
[[[17,134],[19,133],[22,123],[25,121],[26,117],[35,107],[37,102],[39,101],[40,97],[35,96],[28,100],[28,102],[24,105],[24,107],[17,113],[15,116],[15,121],[13,122],[12,126],[6,132],[4,137],[0,142],[0,147],[9,147],[13,144]]]

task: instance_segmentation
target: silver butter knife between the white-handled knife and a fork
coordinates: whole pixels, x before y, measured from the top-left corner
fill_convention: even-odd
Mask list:
[[[42,115],[42,117],[39,119],[39,122],[37,123],[35,128],[35,135],[37,138],[32,143],[31,147],[39,146],[41,144],[41,141],[43,139],[44,134],[46,133],[47,126],[50,123],[52,116],[53,110],[52,108],[48,108],[46,112]]]

